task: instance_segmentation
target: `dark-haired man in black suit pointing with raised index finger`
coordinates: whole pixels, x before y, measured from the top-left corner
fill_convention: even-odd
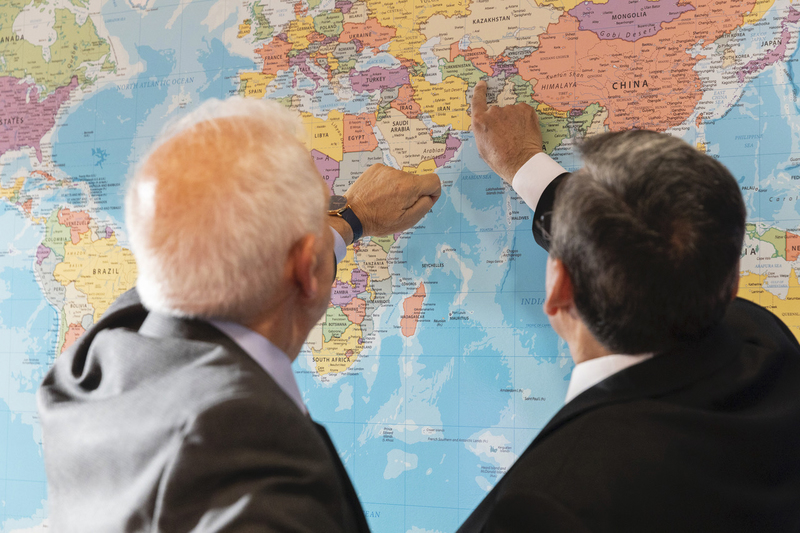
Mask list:
[[[567,403],[462,532],[800,530],[800,346],[736,299],[745,206],[668,135],[605,134],[568,175],[535,111],[473,99],[479,152],[535,207]]]

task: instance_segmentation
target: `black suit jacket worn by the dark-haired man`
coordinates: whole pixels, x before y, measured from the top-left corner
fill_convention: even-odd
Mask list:
[[[800,531],[800,346],[736,300],[562,408],[459,531]]]

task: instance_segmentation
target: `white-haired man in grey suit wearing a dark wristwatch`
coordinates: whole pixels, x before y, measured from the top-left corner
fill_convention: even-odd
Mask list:
[[[290,365],[330,301],[335,242],[341,257],[360,231],[409,228],[439,180],[373,166],[326,216],[299,128],[273,102],[207,102],[137,170],[138,291],[39,391],[55,531],[368,530]]]

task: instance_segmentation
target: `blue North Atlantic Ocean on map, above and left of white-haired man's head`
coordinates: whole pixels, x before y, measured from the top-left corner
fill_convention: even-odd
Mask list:
[[[222,33],[235,16],[213,32],[135,31],[135,19],[146,15],[148,27],[163,28],[175,9],[181,14],[172,26],[201,27],[208,4],[175,5],[142,13],[120,11],[113,3],[103,8],[106,25],[131,54],[143,62],[144,72],[114,84],[97,87],[92,96],[57,126],[53,160],[69,177],[85,181],[101,209],[117,223],[123,221],[125,180],[154,137],[176,114],[167,116],[171,97],[188,91],[190,106],[238,88],[240,70],[252,70],[253,61],[233,56],[222,43]],[[155,25],[155,26],[154,26]],[[132,53],[131,53],[132,52]],[[161,113],[159,113],[161,112]]]

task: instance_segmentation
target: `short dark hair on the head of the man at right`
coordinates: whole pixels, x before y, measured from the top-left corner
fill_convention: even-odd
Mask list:
[[[553,207],[550,254],[592,334],[616,353],[659,352],[701,336],[738,280],[746,210],[733,176],[685,142],[607,133]]]

